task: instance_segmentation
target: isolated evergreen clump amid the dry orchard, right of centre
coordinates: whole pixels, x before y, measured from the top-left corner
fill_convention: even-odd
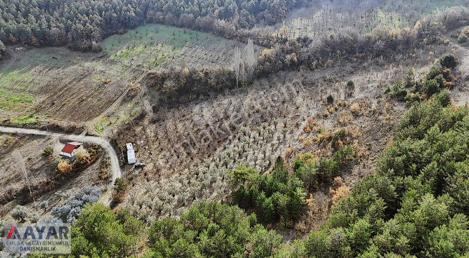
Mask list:
[[[352,145],[335,147],[345,137],[344,129],[333,135],[332,157],[315,161],[311,153],[300,155],[291,172],[281,157],[277,158],[272,173],[263,175],[254,168],[238,165],[228,172],[233,202],[254,210],[263,223],[280,221],[284,227],[292,226],[306,208],[307,193],[322,186],[327,188],[334,177],[348,170],[354,159]]]

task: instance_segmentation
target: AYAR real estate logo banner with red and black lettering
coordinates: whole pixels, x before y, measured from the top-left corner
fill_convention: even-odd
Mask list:
[[[70,223],[6,223],[5,253],[70,253]]]

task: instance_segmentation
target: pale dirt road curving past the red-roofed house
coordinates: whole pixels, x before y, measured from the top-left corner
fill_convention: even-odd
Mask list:
[[[29,129],[29,128],[17,128],[17,127],[5,127],[5,126],[0,126],[0,132],[1,133],[26,133],[26,134],[47,135],[47,136],[67,138],[70,140],[79,140],[79,141],[93,142],[93,143],[99,144],[103,148],[106,149],[111,159],[111,169],[113,172],[113,180],[112,180],[112,184],[109,184],[109,187],[112,188],[114,180],[118,177],[121,177],[121,167],[119,166],[119,159],[117,158],[117,154],[114,151],[111,144],[107,140],[104,140],[103,138],[95,137],[95,136],[77,135],[77,134],[51,133],[47,131],[39,131],[39,130]],[[107,194],[105,195],[105,198],[103,200],[103,202],[106,205],[109,205],[111,203],[110,192],[111,191],[107,191]]]

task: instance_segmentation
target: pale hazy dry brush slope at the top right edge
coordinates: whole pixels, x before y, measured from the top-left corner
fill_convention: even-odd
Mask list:
[[[413,0],[393,2],[335,1],[312,2],[309,7],[292,10],[281,23],[276,24],[276,32],[281,37],[310,37],[319,39],[325,35],[337,34],[345,30],[366,33],[373,29],[401,29],[413,27],[425,15],[442,7],[463,6],[463,0]],[[353,28],[353,29],[352,29]]]

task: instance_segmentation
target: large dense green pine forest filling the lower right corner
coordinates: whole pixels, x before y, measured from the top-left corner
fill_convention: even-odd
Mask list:
[[[469,255],[469,108],[442,103],[442,95],[402,118],[376,175],[340,199],[306,240],[309,257]]]

